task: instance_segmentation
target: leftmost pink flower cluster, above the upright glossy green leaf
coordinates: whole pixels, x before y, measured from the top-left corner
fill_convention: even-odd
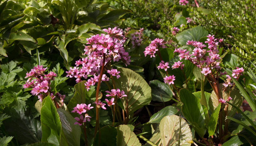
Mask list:
[[[45,74],[45,70],[47,68],[43,68],[43,66],[35,66],[31,69],[30,72],[26,73],[25,78],[29,78],[26,81],[26,84],[23,85],[23,88],[32,88],[31,94],[38,96],[39,101],[42,101],[46,96],[50,96],[52,99],[55,97],[60,99],[60,102],[63,104],[63,100],[65,95],[61,95],[60,93],[56,93],[50,91],[50,81],[54,80],[56,77],[56,73],[50,72]]]

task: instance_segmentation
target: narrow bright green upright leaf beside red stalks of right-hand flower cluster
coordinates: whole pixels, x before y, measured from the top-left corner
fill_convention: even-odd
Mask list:
[[[219,117],[219,110],[221,110],[221,104],[219,104],[217,108],[215,108],[215,110],[212,112],[210,116],[210,120],[208,122],[208,127],[207,127],[209,137],[213,135],[215,132],[217,122],[218,122],[218,117]]]

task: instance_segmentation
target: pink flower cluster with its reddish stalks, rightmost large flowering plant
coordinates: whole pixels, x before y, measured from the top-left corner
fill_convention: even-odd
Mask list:
[[[215,39],[214,35],[208,35],[207,36],[207,46],[204,45],[202,42],[197,41],[188,41],[187,45],[191,45],[195,47],[192,52],[184,49],[175,49],[174,53],[178,53],[180,60],[185,59],[191,61],[194,65],[197,66],[201,70],[201,73],[207,78],[209,81],[213,91],[215,92],[215,95],[218,97],[218,102],[222,104],[222,111],[219,113],[219,137],[221,138],[223,136],[223,130],[222,130],[222,114],[226,114],[227,110],[227,104],[226,101],[232,100],[230,97],[230,88],[234,87],[234,83],[231,82],[231,77],[229,75],[226,75],[226,72],[221,72],[220,67],[220,57],[219,57],[219,50],[218,50],[218,43],[222,42],[222,39]],[[174,67],[177,68],[178,66],[182,65],[181,62],[175,62]],[[238,78],[242,75],[242,72],[244,71],[243,68],[236,68],[232,71],[232,77]],[[220,83],[221,77],[226,77],[224,83]],[[204,80],[201,81],[201,84],[203,84]],[[220,87],[222,88],[222,92],[225,91],[228,92],[228,99],[222,99],[222,92],[220,91]],[[229,88],[229,89],[228,89]],[[202,94],[204,94],[203,85],[201,85]],[[227,128],[227,122],[225,123],[225,128]],[[224,131],[224,134],[225,131]]]

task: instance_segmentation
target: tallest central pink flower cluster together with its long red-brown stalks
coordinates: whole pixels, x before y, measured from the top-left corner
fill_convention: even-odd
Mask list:
[[[96,89],[96,99],[94,104],[96,104],[96,125],[95,134],[99,129],[99,108],[106,110],[105,103],[102,103],[99,98],[99,88],[102,81],[109,81],[109,77],[104,74],[105,71],[110,74],[110,78],[116,76],[119,78],[120,75],[117,69],[112,69],[109,67],[113,61],[123,61],[125,65],[129,65],[130,56],[125,52],[123,44],[125,42],[125,37],[123,35],[123,30],[120,28],[108,28],[103,29],[107,34],[97,34],[93,35],[91,38],[87,38],[88,43],[84,48],[84,55],[86,57],[79,59],[75,63],[74,68],[70,68],[67,73],[67,77],[76,78],[76,82],[81,82],[82,79],[87,79],[84,83],[85,88],[89,91],[91,86],[97,84]],[[113,80],[112,80],[113,81]],[[113,82],[114,83],[114,82]],[[113,85],[112,90],[114,92],[106,91],[111,93],[112,99],[106,99],[107,104],[116,105],[116,100],[113,97],[124,97],[124,91],[120,89],[115,89]],[[108,95],[106,95],[108,97]],[[114,103],[113,103],[114,102]],[[112,109],[112,108],[111,108]],[[115,109],[115,108],[114,108]],[[114,111],[113,112],[113,123],[114,123]],[[85,128],[85,127],[84,127]],[[94,135],[95,136],[95,135]]]

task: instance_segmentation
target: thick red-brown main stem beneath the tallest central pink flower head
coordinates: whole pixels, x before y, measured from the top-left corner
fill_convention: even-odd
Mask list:
[[[96,96],[95,96],[95,102],[98,103],[98,98],[99,98],[99,88],[101,87],[101,79],[102,79],[102,75],[104,72],[104,65],[105,65],[105,59],[106,59],[106,54],[103,53],[103,62],[102,62],[102,66],[101,66],[101,74],[99,75],[99,81],[98,81],[98,85],[97,85],[97,89],[96,89]],[[95,124],[95,130],[94,130],[94,137],[99,129],[99,108],[97,106],[96,107],[96,124]]]

